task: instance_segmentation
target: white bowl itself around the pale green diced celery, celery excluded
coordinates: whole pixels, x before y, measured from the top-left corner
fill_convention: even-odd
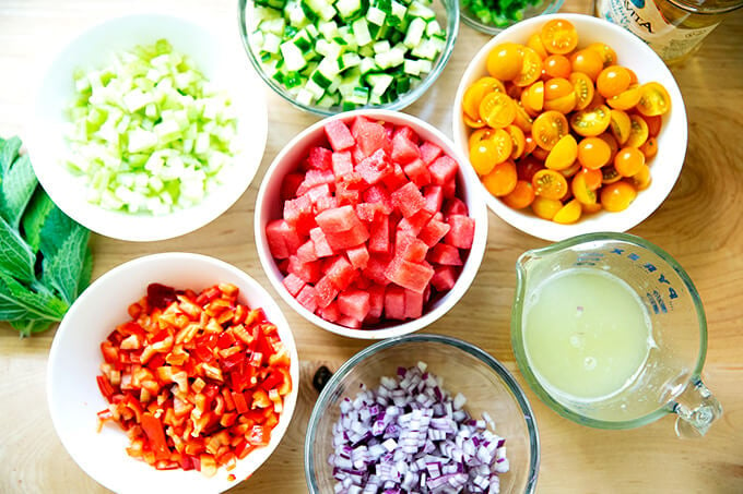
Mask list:
[[[103,68],[114,53],[165,38],[189,56],[219,91],[229,95],[237,113],[240,152],[225,183],[187,209],[162,216],[104,209],[86,201],[84,185],[61,162],[68,154],[64,115],[74,100],[73,71]],[[268,112],[260,80],[245,62],[237,38],[224,38],[169,15],[114,19],[67,45],[40,79],[31,116],[27,147],[34,171],[51,200],[75,221],[120,240],[164,240],[193,231],[227,210],[250,185],[268,136]]]

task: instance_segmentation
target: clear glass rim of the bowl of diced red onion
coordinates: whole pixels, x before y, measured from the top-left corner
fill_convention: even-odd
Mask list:
[[[323,410],[327,408],[330,397],[334,393],[335,388],[339,386],[341,381],[349,375],[356,365],[365,359],[373,357],[374,354],[385,350],[387,348],[396,347],[398,345],[405,345],[411,342],[433,342],[453,347],[457,350],[461,350],[470,356],[479,359],[482,363],[488,366],[493,372],[503,381],[508,390],[511,393],[514,399],[518,403],[521,412],[523,413],[523,419],[527,422],[527,430],[529,431],[529,447],[531,451],[531,458],[529,459],[529,477],[527,485],[524,489],[524,494],[532,494],[536,489],[536,478],[539,474],[540,466],[540,438],[539,429],[536,426],[536,420],[534,418],[534,412],[531,409],[531,405],[527,399],[523,390],[516,382],[511,373],[497,360],[491,357],[487,352],[480,349],[479,347],[463,341],[459,338],[453,338],[444,335],[433,335],[433,334],[416,334],[416,335],[404,335],[396,338],[388,338],[374,344],[364,350],[359,351],[351,359],[345,361],[343,365],[339,368],[338,371],[328,381],[328,384],[322,388],[320,396],[315,402],[312,408],[312,413],[309,418],[309,423],[307,425],[307,433],[305,435],[305,478],[307,480],[307,487],[312,494],[320,494],[319,487],[316,485],[315,481],[315,462],[312,459],[312,447],[315,444],[315,433],[317,431],[317,424],[322,415]]]

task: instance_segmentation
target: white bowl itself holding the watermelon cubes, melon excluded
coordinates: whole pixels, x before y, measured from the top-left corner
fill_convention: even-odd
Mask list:
[[[423,314],[423,316],[379,329],[349,328],[326,321],[305,309],[294,297],[292,297],[292,294],[282,284],[284,276],[279,270],[279,267],[271,255],[271,251],[269,250],[266,238],[266,226],[268,222],[272,219],[279,219],[282,214],[280,190],[283,178],[299,167],[302,160],[309,153],[310,147],[327,142],[325,137],[325,131],[322,130],[326,123],[338,119],[345,122],[351,122],[357,116],[364,116],[374,120],[390,122],[396,125],[410,125],[421,136],[421,138],[432,141],[434,144],[440,146],[444,153],[449,155],[459,164],[457,181],[461,186],[460,198],[462,198],[462,201],[467,204],[469,215],[470,217],[474,218],[475,221],[474,242],[472,244],[472,249],[467,257],[467,261],[464,262],[464,266],[461,274],[459,275],[459,278],[457,279],[457,282],[451,288],[451,290],[439,300],[435,301],[428,308],[427,312]],[[260,262],[263,265],[263,269],[266,270],[269,280],[273,285],[273,288],[276,289],[279,294],[281,294],[284,301],[286,301],[286,303],[288,303],[292,309],[297,311],[310,323],[314,323],[329,332],[352,338],[390,338],[393,336],[406,335],[428,326],[434,321],[446,314],[467,292],[468,288],[470,288],[470,285],[472,285],[472,280],[480,268],[480,263],[482,262],[483,255],[485,253],[485,243],[487,241],[487,208],[485,207],[482,196],[477,193],[474,193],[476,186],[479,186],[477,178],[462,171],[467,168],[469,168],[467,159],[464,159],[461,153],[457,150],[451,141],[449,141],[449,138],[446,137],[441,131],[415,117],[402,112],[367,109],[346,111],[344,113],[320,120],[319,122],[310,125],[296,137],[294,137],[288,144],[286,144],[275,157],[266,172],[266,176],[263,177],[263,181],[260,185],[258,197],[256,200],[256,246],[258,249]]]

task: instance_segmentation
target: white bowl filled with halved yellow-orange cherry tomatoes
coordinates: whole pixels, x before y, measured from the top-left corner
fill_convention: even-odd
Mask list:
[[[453,137],[492,212],[558,241],[626,231],[669,195],[686,153],[681,92],[663,61],[601,19],[514,25],[472,59]]]

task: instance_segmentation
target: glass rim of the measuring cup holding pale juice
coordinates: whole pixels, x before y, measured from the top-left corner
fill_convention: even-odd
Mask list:
[[[534,373],[531,372],[529,365],[527,365],[527,356],[523,350],[523,344],[521,341],[522,334],[520,315],[523,312],[522,311],[523,299],[526,294],[524,293],[526,270],[521,265],[521,261],[523,260],[523,257],[528,255],[549,255],[551,253],[564,249],[569,249],[581,243],[602,241],[629,243],[647,249],[648,251],[652,252],[653,254],[658,255],[660,258],[665,261],[679,275],[679,277],[684,281],[684,285],[688,290],[689,297],[694,301],[694,308],[697,314],[697,322],[699,323],[699,354],[697,357],[696,366],[686,386],[696,385],[701,381],[700,379],[701,368],[705,364],[705,358],[707,356],[707,318],[705,315],[704,306],[701,304],[701,298],[699,297],[699,292],[697,291],[696,287],[694,286],[694,282],[692,281],[692,278],[689,278],[686,270],[684,270],[681,264],[679,264],[679,262],[674,260],[671,256],[671,254],[669,254],[654,243],[649,242],[648,240],[645,240],[641,237],[637,237],[630,233],[620,233],[612,231],[583,233],[576,237],[570,237],[569,239],[565,239],[561,242],[555,242],[541,249],[532,249],[521,254],[519,258],[516,261],[516,291],[514,294],[514,303],[511,305],[511,347],[514,349],[514,354],[516,356],[516,363],[518,364],[519,370],[521,371],[521,375],[523,375],[523,378],[529,384],[529,387],[531,387],[531,390],[534,391],[534,394],[539,397],[539,399],[542,400],[543,403],[545,403],[552,410],[557,412],[559,415],[568,420],[571,420],[576,423],[579,423],[581,425],[587,425],[589,427],[608,430],[635,429],[654,422],[661,417],[665,417],[669,413],[673,413],[674,409],[673,399],[671,399],[671,401],[669,401],[665,405],[659,405],[657,410],[646,415],[638,417],[637,419],[634,420],[609,422],[582,417],[563,407],[558,401],[556,401],[554,398],[550,396],[550,394],[542,387],[541,384],[539,384],[539,381],[536,381]],[[684,387],[684,389],[686,387]]]

